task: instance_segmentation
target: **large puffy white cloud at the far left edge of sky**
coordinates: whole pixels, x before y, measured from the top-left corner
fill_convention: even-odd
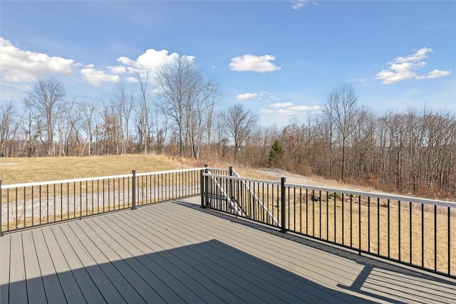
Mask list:
[[[11,82],[36,81],[38,78],[49,75],[69,74],[74,63],[71,59],[22,51],[1,37],[0,49],[2,78]]]

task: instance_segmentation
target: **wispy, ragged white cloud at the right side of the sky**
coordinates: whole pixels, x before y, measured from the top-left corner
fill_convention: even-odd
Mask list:
[[[451,70],[432,70],[427,75],[415,73],[415,70],[426,66],[423,59],[427,58],[427,53],[432,53],[432,48],[420,48],[413,55],[396,57],[394,61],[388,63],[390,65],[388,69],[380,70],[373,79],[382,80],[384,84],[391,84],[410,78],[432,79],[450,75]]]

